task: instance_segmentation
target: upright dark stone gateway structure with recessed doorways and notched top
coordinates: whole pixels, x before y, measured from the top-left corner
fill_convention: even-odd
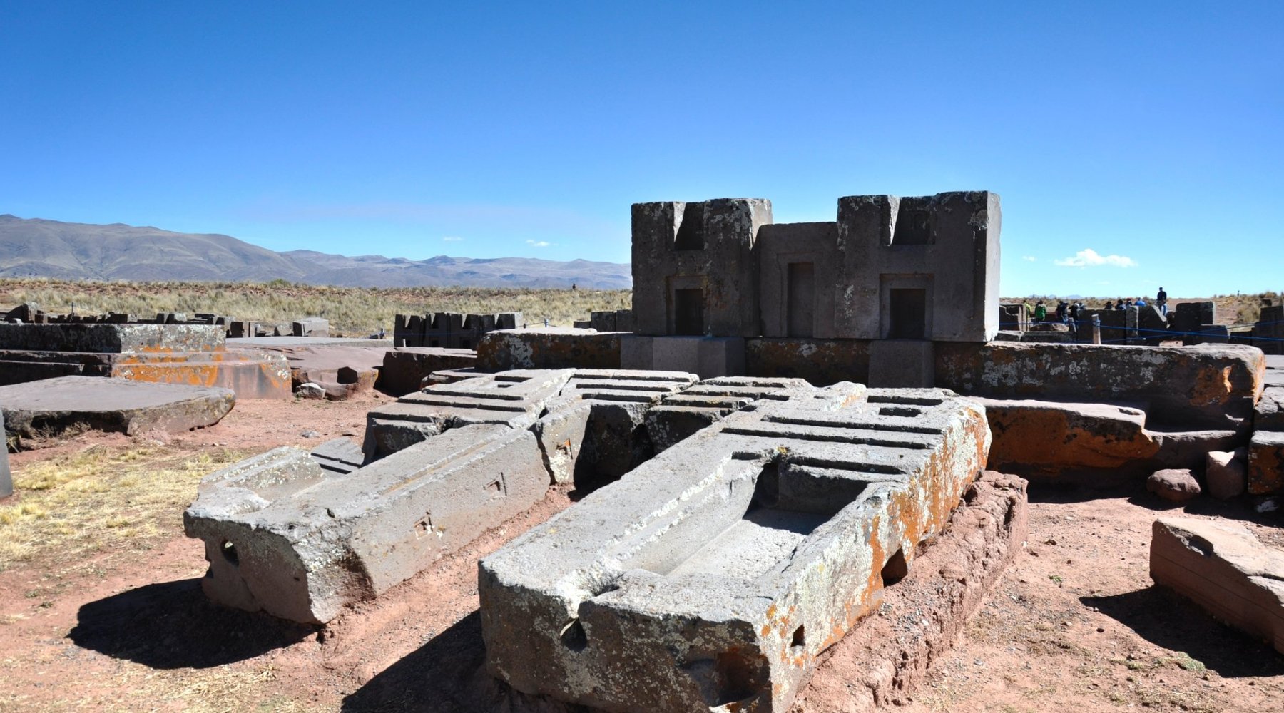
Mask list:
[[[1000,213],[990,191],[846,196],[832,223],[773,223],[764,199],[634,204],[620,365],[728,376],[745,346],[727,339],[898,340],[871,348],[880,381],[931,386],[932,342],[998,333]]]

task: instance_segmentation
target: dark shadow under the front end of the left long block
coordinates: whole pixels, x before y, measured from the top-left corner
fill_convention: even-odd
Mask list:
[[[212,604],[200,580],[146,585],[80,608],[77,646],[152,668],[209,668],[254,658],[316,628]]]

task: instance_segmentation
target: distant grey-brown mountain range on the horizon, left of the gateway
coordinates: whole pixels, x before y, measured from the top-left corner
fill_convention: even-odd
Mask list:
[[[383,255],[276,253],[227,235],[95,226],[0,215],[0,277],[127,280],[131,282],[268,282],[288,280],[345,287],[579,287],[633,286],[628,264],[538,258],[426,260]]]

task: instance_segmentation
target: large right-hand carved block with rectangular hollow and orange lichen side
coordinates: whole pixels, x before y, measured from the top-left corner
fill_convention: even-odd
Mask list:
[[[614,712],[786,710],[990,445],[942,390],[764,399],[482,560],[488,666]]]

